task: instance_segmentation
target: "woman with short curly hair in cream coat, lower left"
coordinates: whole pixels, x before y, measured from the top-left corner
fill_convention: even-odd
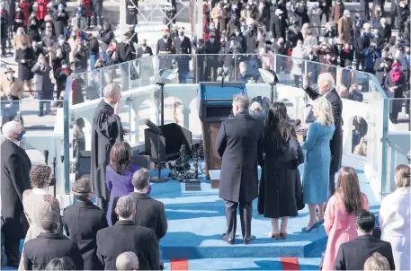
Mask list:
[[[27,221],[30,224],[24,244],[39,236],[43,228],[41,227],[42,217],[48,212],[60,212],[60,205],[56,197],[49,195],[49,185],[52,183],[53,174],[47,165],[36,165],[30,171],[30,182],[32,189],[27,189],[22,193],[22,206]],[[63,232],[63,225],[58,221],[58,233]],[[23,248],[24,251],[24,248]],[[24,252],[20,261],[19,270],[24,267]]]

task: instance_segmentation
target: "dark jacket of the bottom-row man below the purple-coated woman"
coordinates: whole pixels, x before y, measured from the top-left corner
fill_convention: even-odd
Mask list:
[[[97,257],[105,270],[116,270],[116,258],[126,251],[136,253],[141,270],[158,270],[160,255],[153,230],[121,220],[97,232]]]

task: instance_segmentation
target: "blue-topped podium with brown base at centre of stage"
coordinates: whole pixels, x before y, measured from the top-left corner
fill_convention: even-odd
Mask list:
[[[234,96],[246,95],[246,84],[228,82],[222,86],[220,82],[204,82],[200,83],[199,89],[199,118],[201,119],[204,149],[204,171],[206,178],[210,179],[210,170],[221,169],[221,157],[215,149],[219,127],[224,119],[232,115]]]

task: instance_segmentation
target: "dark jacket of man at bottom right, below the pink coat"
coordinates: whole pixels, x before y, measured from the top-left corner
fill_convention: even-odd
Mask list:
[[[335,270],[362,270],[364,262],[379,252],[389,260],[389,268],[395,270],[394,258],[392,256],[391,244],[388,241],[378,240],[371,234],[357,237],[340,245],[338,249],[334,269]]]

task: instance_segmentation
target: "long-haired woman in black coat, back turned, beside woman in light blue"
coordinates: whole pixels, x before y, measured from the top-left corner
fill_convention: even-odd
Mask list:
[[[289,216],[297,216],[302,205],[301,179],[298,166],[304,154],[297,141],[294,127],[288,122],[287,108],[282,102],[274,102],[268,111],[264,129],[264,161],[258,213],[270,217],[275,240],[287,238]],[[281,228],[278,220],[281,217]]]

